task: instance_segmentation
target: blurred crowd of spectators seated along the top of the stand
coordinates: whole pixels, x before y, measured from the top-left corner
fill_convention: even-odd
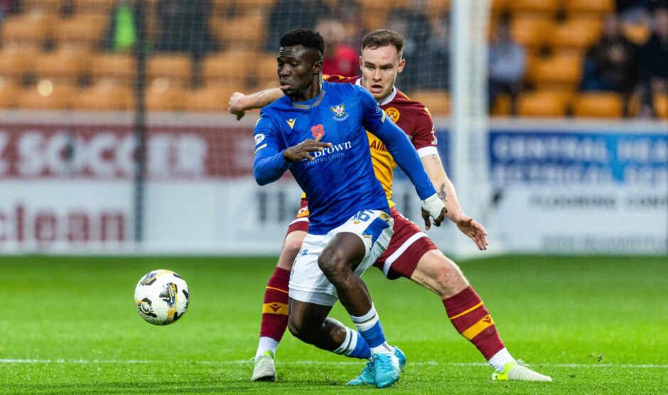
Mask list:
[[[38,0],[0,0],[0,21],[21,13],[24,3]],[[80,0],[62,0],[68,12]],[[89,0],[95,4],[95,0]],[[239,0],[237,0],[237,3]],[[109,0],[112,4],[99,49],[131,52],[139,42],[137,0]],[[242,26],[261,29],[261,43],[251,50],[273,54],[280,36],[295,27],[314,28],[325,38],[326,74],[352,76],[360,74],[358,54],[360,40],[370,26],[399,31],[406,38],[406,68],[397,86],[405,92],[438,90],[448,92],[450,85],[451,22],[447,9],[431,9],[434,1],[400,1],[382,15],[363,12],[368,2],[359,0],[253,0],[254,11],[262,14],[262,24]],[[249,4],[250,4],[249,3]],[[193,59],[193,82],[198,81],[200,65],[206,55],[229,50],[235,39],[221,34],[226,23],[235,18],[234,1],[222,0],[146,0],[146,15],[151,16],[149,50],[163,53],[190,53]],[[221,4],[223,4],[221,6]],[[224,17],[213,16],[221,7],[232,10]],[[266,6],[264,8],[263,4]],[[251,7],[246,5],[247,7]],[[368,11],[368,10],[367,10]],[[375,20],[374,18],[378,18]],[[508,114],[516,114],[517,97],[536,87],[530,78],[529,63],[537,48],[525,48],[513,31],[517,13],[495,15],[490,23],[488,52],[489,106],[500,98],[510,102]],[[566,18],[557,15],[556,18]],[[238,18],[237,18],[238,19]],[[249,19],[250,21],[250,19]],[[151,24],[149,23],[149,25]],[[623,26],[644,27],[640,40],[631,39]],[[602,18],[600,36],[591,48],[579,55],[578,91],[615,92],[629,102],[640,98],[633,112],[638,117],[654,117],[653,97],[668,94],[668,0],[616,0],[615,12]],[[545,55],[551,48],[539,48]],[[580,60],[578,60],[579,62]],[[628,112],[630,114],[630,112]]]

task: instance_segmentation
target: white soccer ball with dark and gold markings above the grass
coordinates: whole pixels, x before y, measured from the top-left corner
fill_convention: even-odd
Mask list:
[[[189,300],[188,284],[171,270],[151,271],[134,288],[139,316],[153,325],[176,322],[188,310]]]

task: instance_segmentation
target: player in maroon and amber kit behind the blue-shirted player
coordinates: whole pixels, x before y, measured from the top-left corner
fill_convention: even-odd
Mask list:
[[[445,202],[448,218],[461,232],[470,237],[480,250],[487,249],[485,228],[463,212],[436,148],[436,132],[429,111],[394,87],[397,75],[404,70],[402,59],[404,40],[399,33],[379,29],[362,40],[360,56],[361,77],[330,76],[329,82],[353,83],[365,87],[377,99],[384,112],[409,136],[439,197]],[[235,92],[230,97],[230,113],[237,119],[247,109],[263,107],[282,96],[279,88],[244,95]],[[392,175],[396,166],[383,144],[369,136],[372,162],[376,177],[383,185],[392,217],[394,234],[389,247],[376,261],[389,279],[406,277],[436,293],[446,308],[446,314],[456,330],[478,348],[496,370],[492,379],[551,381],[518,364],[502,342],[492,316],[483,301],[470,286],[459,267],[436,247],[429,236],[413,222],[403,217],[392,202]],[[429,224],[426,224],[429,229]],[[264,293],[260,341],[252,379],[272,381],[276,377],[274,354],[283,336],[288,318],[288,285],[292,263],[308,229],[308,202],[302,196],[301,210],[289,225],[283,250],[274,274]],[[369,365],[348,384],[373,384]]]

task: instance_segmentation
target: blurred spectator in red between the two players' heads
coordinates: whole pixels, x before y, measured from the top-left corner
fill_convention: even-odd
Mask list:
[[[335,19],[323,19],[315,30],[325,39],[323,74],[343,77],[357,75],[357,50],[348,45],[343,23]]]

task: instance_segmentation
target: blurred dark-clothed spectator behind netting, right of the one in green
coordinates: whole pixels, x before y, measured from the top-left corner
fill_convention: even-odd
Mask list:
[[[207,23],[210,12],[210,0],[158,0],[160,33],[156,50],[190,52],[196,62],[217,50],[218,43]]]

